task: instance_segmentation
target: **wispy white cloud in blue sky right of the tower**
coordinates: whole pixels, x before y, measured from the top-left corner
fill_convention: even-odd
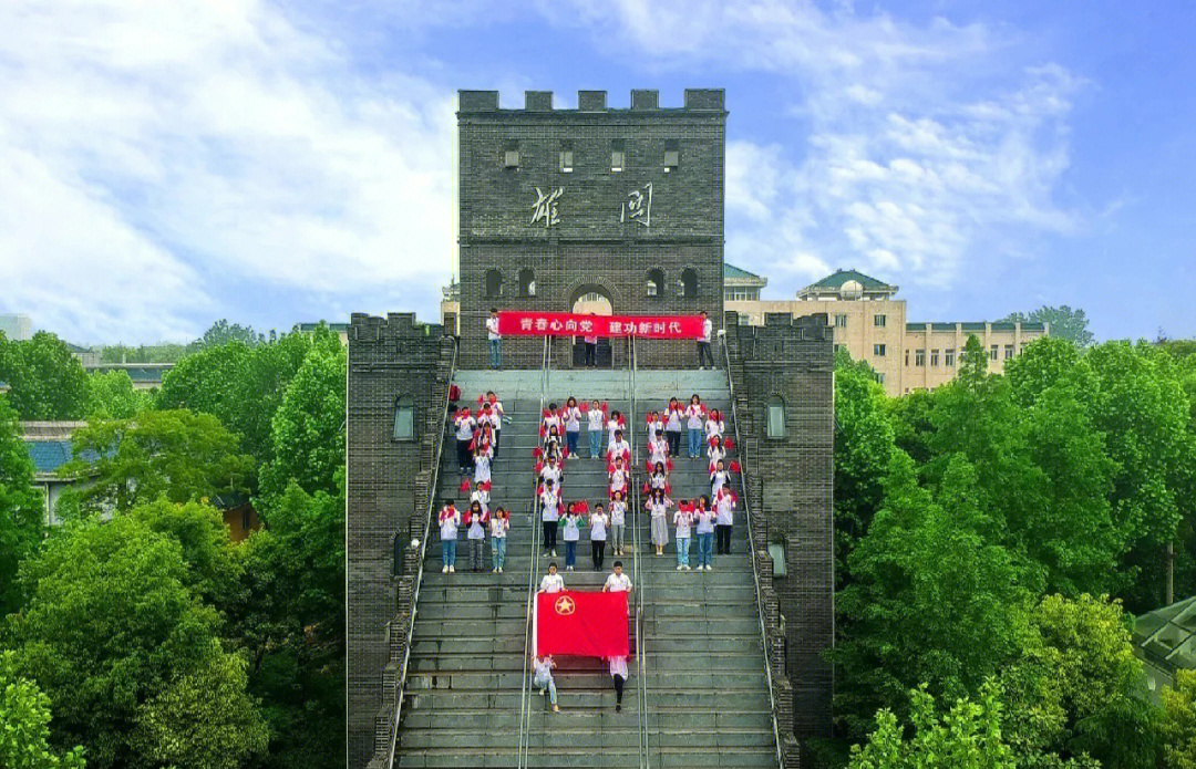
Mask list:
[[[727,254],[746,266],[795,279],[855,266],[941,289],[970,260],[1082,224],[1056,197],[1084,82],[1033,61],[1008,27],[779,0],[578,0],[573,12],[658,66],[792,81],[797,101],[779,111],[807,133],[727,149]]]

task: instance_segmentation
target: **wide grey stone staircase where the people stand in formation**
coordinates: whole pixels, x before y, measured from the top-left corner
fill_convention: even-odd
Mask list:
[[[433,535],[425,562],[410,668],[403,703],[401,767],[515,767],[524,702],[525,627],[529,586],[537,584],[547,560],[562,568],[572,589],[600,589],[616,560],[610,549],[602,573],[592,571],[586,535],[578,547],[576,571],[563,572],[565,552],[544,559],[531,549],[538,522],[531,517],[532,449],[537,444],[541,371],[458,371],[463,402],[493,389],[507,420],[494,463],[492,507],[512,512],[504,574],[468,571],[465,542],[457,573],[443,574],[439,540]],[[726,413],[726,376],[719,371],[640,371],[636,413],[630,413],[627,371],[554,371],[545,405],[597,398],[628,414],[636,430],[636,465],[645,450],[643,413],[669,396],[697,392]],[[728,425],[730,427],[730,425]],[[458,502],[459,476],[453,443],[446,442],[438,498]],[[587,459],[582,426],[580,459],[566,463],[566,502],[605,499],[605,462]],[[673,498],[709,490],[706,460],[678,459]],[[439,507],[439,504],[438,504]],[[732,555],[715,556],[713,572],[677,572],[672,542],[657,558],[648,545],[646,516],[633,512],[627,545],[640,542],[639,571],[628,554],[624,570],[643,591],[647,697],[647,762],[659,767],[776,767],[775,742],[764,679],[746,524],[737,515]],[[671,539],[671,535],[670,535]],[[488,552],[488,550],[487,550]],[[696,552],[696,546],[694,548]],[[634,593],[633,593],[634,595]],[[598,660],[559,660],[560,713],[532,690],[527,721],[530,767],[641,765],[641,681],[629,664],[623,709],[615,712],[615,691]]]

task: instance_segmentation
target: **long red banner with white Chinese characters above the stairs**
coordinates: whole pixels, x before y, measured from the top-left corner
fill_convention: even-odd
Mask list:
[[[499,312],[499,333],[506,337],[643,337],[697,339],[701,315],[579,315],[574,313]]]

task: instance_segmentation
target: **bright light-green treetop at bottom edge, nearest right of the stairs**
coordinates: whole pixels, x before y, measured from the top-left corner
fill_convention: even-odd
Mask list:
[[[852,749],[849,769],[1014,769],[1001,738],[1000,689],[984,684],[976,701],[956,700],[941,718],[926,687],[909,693],[913,734],[891,710],[880,710],[867,743]]]

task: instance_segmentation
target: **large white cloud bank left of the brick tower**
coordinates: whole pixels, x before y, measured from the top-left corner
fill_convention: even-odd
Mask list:
[[[453,94],[273,4],[2,4],[0,104],[0,301],[72,338],[195,334],[232,283],[409,307],[452,269]]]

